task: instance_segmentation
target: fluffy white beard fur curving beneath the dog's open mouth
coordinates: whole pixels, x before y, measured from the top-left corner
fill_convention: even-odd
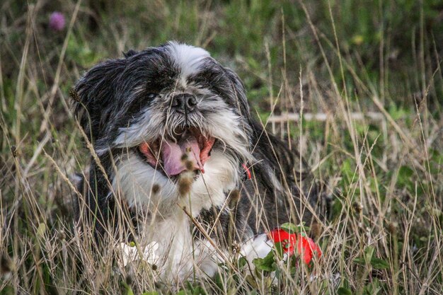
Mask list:
[[[120,192],[130,208],[168,219],[180,207],[198,216],[202,209],[222,206],[226,193],[236,187],[238,163],[234,158],[214,151],[205,163],[205,173],[192,183],[190,192],[180,195],[178,185],[132,152],[117,159],[113,188]],[[160,169],[160,168],[159,168]],[[153,188],[159,190],[153,190]]]

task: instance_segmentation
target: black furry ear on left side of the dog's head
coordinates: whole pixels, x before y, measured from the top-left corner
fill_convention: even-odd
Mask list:
[[[89,69],[71,90],[75,115],[88,139],[95,141],[109,117],[126,59],[110,59]]]

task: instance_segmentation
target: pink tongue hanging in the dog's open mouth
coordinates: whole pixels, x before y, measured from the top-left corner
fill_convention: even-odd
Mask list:
[[[163,169],[166,174],[173,176],[178,175],[186,170],[183,154],[188,155],[188,161],[192,161],[193,170],[203,170],[200,161],[200,146],[195,137],[188,137],[181,141],[164,141],[161,147],[161,158],[163,158]]]

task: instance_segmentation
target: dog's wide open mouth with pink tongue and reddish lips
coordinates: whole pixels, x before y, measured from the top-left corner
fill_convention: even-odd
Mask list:
[[[146,161],[156,168],[162,166],[168,176],[175,176],[184,170],[197,170],[205,173],[206,161],[209,159],[214,137],[205,136],[197,128],[178,129],[176,137],[163,137],[139,145],[139,151]]]

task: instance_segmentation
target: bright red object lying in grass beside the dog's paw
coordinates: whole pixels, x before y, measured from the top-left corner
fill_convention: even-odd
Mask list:
[[[311,238],[302,236],[300,233],[288,233],[284,229],[274,229],[269,233],[274,243],[281,243],[282,248],[288,255],[293,255],[294,250],[301,256],[304,262],[309,265],[313,255],[321,257],[321,249]]]

